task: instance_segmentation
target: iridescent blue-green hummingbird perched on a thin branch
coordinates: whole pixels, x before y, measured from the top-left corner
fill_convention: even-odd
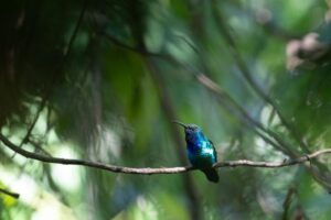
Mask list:
[[[188,157],[192,166],[202,170],[210,182],[218,183],[218,174],[212,168],[217,163],[217,152],[213,142],[195,124],[184,124],[179,121],[173,123],[184,128]]]

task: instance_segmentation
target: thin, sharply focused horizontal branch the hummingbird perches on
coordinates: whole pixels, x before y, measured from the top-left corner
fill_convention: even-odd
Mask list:
[[[39,153],[32,153],[20,148],[12,142],[10,142],[6,136],[0,133],[0,141],[14,151],[15,153],[26,157],[33,158],[36,161],[51,163],[51,164],[63,164],[63,165],[81,165],[87,167],[99,168],[113,173],[122,173],[122,174],[140,174],[140,175],[152,175],[152,174],[178,174],[178,173],[185,173],[190,170],[195,170],[197,168],[192,166],[181,166],[181,167],[161,167],[161,168],[136,168],[136,167],[125,167],[125,166],[115,166],[110,164],[103,164],[98,162],[89,162],[84,160],[71,160],[71,158],[62,158],[62,157],[52,157],[45,156]],[[214,165],[214,168],[218,167],[238,167],[238,166],[247,166],[247,167],[264,167],[264,168],[277,168],[277,167],[285,167],[285,166],[292,166],[296,164],[302,164],[307,161],[310,161],[314,157],[318,157],[322,154],[330,154],[331,148],[320,150],[314,153],[293,158],[293,160],[284,160],[282,162],[253,162],[248,160],[238,160],[238,161],[227,161],[227,162],[218,162]]]

